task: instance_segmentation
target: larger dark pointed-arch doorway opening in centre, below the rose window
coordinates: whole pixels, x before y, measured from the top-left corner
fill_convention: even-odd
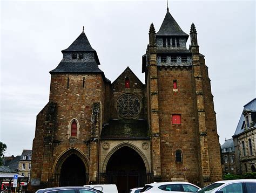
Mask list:
[[[119,193],[142,187],[146,183],[146,167],[142,157],[130,147],[118,149],[107,162],[106,181],[116,184]]]

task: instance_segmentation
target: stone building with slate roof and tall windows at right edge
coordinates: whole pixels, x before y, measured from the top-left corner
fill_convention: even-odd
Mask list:
[[[256,169],[256,98],[248,102],[232,136],[235,147],[237,174],[255,172]]]

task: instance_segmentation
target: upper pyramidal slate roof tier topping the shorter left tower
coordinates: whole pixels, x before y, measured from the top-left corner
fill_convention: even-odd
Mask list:
[[[78,36],[78,38],[68,47],[68,49],[63,50],[62,52],[68,51],[83,51],[83,52],[96,52],[92,49],[92,46],[87,39],[84,31]]]

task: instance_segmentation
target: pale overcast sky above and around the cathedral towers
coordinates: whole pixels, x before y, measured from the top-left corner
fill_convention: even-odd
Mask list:
[[[255,2],[169,1],[169,8],[187,34],[191,23],[196,25],[223,144],[234,134],[243,106],[256,95]],[[32,149],[36,115],[49,101],[49,71],[83,25],[111,82],[127,66],[144,82],[149,27],[153,22],[158,31],[165,14],[165,0],[2,1],[0,141],[8,147],[5,156]]]

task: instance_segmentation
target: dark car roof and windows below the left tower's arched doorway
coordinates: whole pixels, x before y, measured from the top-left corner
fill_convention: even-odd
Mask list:
[[[37,190],[36,193],[100,193],[102,191],[89,187],[56,187]]]

